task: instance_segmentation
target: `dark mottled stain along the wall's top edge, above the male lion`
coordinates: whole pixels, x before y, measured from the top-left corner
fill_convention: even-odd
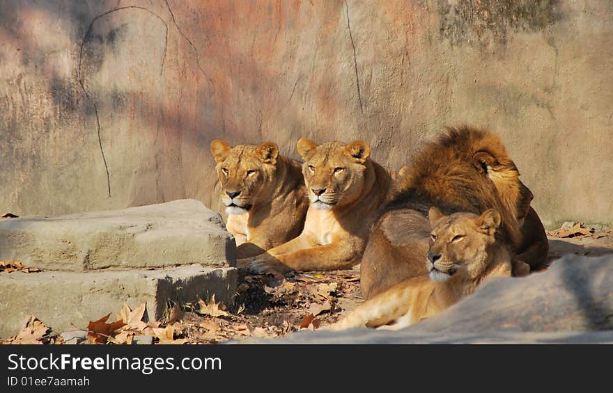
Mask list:
[[[452,45],[506,44],[509,32],[548,29],[561,19],[559,0],[438,1],[440,34]]]

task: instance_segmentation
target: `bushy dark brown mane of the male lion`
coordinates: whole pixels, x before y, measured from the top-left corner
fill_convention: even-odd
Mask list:
[[[496,183],[492,175],[497,175]],[[384,212],[413,209],[426,215],[435,206],[444,214],[481,214],[493,208],[502,215],[504,238],[515,243],[519,227],[513,190],[519,187],[518,175],[498,136],[468,126],[449,127],[412,157]]]

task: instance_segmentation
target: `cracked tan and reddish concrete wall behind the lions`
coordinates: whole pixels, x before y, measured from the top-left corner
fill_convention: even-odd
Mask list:
[[[398,169],[444,125],[503,138],[545,225],[613,223],[613,3],[4,1],[0,210],[196,198],[208,145],[363,138]]]

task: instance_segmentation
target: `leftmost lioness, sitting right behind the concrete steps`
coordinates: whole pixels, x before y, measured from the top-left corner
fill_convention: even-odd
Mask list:
[[[258,255],[300,234],[309,207],[300,163],[280,156],[272,142],[230,147],[216,139],[210,150],[238,258]]]

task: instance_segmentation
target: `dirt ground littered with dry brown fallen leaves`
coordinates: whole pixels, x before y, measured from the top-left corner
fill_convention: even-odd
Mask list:
[[[607,227],[566,225],[550,231],[548,265],[564,254],[599,256],[613,254],[613,230]],[[144,339],[154,344],[217,344],[248,337],[282,337],[301,329],[316,330],[337,321],[363,299],[359,291],[359,266],[349,271],[240,276],[235,303],[226,307],[214,299],[208,303],[173,304],[162,321],[141,321],[144,304],[127,305],[107,323],[91,316],[82,344],[132,344]],[[115,320],[111,319],[111,320]],[[63,344],[59,332],[44,321],[32,319],[6,343]]]

